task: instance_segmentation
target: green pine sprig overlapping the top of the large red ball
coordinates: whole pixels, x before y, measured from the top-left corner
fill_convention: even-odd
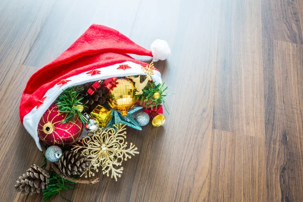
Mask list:
[[[68,114],[62,123],[73,122],[79,117],[83,123],[87,122],[86,117],[82,114],[83,107],[85,107],[81,100],[83,99],[81,92],[84,87],[70,87],[61,93],[57,99],[56,105],[59,112]]]

